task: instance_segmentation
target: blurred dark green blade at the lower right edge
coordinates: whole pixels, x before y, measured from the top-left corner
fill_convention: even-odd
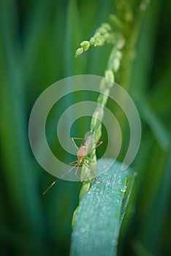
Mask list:
[[[153,154],[150,154],[148,159],[144,195],[142,196],[141,193],[139,198],[142,219],[140,238],[145,248],[153,255],[157,255],[157,252],[159,252],[164,230],[164,219],[169,210],[170,155],[171,150],[161,151],[159,144],[156,143]]]

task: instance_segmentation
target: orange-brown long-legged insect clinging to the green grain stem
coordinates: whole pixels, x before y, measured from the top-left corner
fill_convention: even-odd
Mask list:
[[[96,148],[99,147],[103,141],[96,142],[96,134],[91,131],[86,132],[85,138],[72,137],[71,140],[75,148],[77,148],[77,160],[69,163],[69,165],[73,166],[66,173],[64,173],[62,177],[66,176],[67,173],[71,172],[76,167],[75,176],[80,179],[80,181],[96,178]],[[80,148],[75,143],[75,140],[83,140]],[[79,167],[82,167],[80,176],[77,175]],[[53,187],[54,184],[56,184],[56,181],[53,181],[50,187],[48,187],[45,192],[42,193],[42,195],[45,195],[45,193],[51,187]]]

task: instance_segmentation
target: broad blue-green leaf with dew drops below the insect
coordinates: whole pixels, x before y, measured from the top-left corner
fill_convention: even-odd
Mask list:
[[[102,159],[104,169],[113,159]],[[118,236],[134,183],[131,169],[114,162],[80,200],[70,255],[116,255]]]

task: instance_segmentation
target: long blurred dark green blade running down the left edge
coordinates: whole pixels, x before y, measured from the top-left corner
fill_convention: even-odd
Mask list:
[[[32,171],[26,131],[26,116],[23,104],[23,69],[20,64],[20,50],[16,39],[15,8],[10,2],[1,4],[1,145],[5,167],[4,177],[7,191],[18,215],[18,229],[36,233],[37,240],[42,236],[42,208],[37,196],[36,173]],[[9,213],[7,213],[9,214]],[[21,250],[21,249],[20,249]]]

